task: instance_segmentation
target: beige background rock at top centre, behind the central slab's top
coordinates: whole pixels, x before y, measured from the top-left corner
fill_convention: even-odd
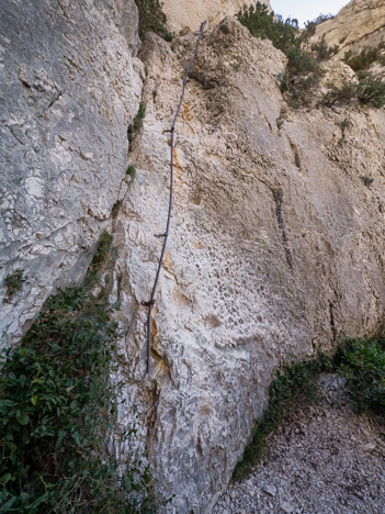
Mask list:
[[[270,1],[262,0],[269,9]],[[226,15],[236,14],[244,5],[254,5],[254,0],[163,0],[162,10],[167,23],[177,34],[180,31],[197,31],[201,23],[207,20],[211,25],[217,24]]]

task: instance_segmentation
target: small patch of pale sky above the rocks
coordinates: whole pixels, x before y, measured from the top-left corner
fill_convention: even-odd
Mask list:
[[[270,0],[274,12],[283,18],[296,18],[303,26],[307,20],[314,20],[318,14],[337,14],[349,3],[349,0]]]

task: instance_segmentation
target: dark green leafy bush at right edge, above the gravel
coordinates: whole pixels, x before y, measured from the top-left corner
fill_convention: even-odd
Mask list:
[[[385,339],[350,339],[338,354],[359,412],[385,413]]]

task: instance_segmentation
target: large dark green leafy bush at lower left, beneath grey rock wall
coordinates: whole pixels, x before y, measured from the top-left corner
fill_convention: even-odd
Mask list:
[[[87,290],[110,253],[103,233],[89,280],[58,291],[20,347],[1,354],[2,513],[155,512],[148,469],[113,451],[135,427],[114,439],[121,386],[109,377],[117,327],[104,295]]]

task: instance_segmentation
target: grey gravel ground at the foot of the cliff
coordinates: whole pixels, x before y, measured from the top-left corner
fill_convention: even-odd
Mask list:
[[[291,415],[213,514],[385,514],[384,422],[351,410],[340,376],[318,384],[320,403]]]

